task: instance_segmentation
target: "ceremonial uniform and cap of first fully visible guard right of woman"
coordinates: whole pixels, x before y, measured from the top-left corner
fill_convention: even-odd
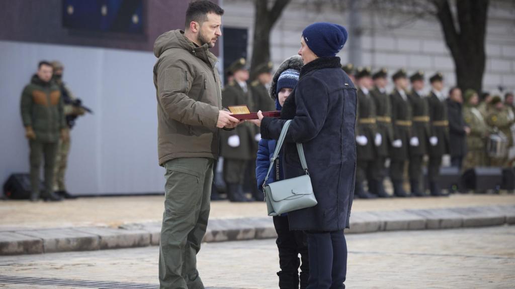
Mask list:
[[[370,68],[358,68],[356,71],[356,80],[363,77],[370,77]],[[356,186],[355,196],[360,198],[373,198],[364,189],[364,182],[367,179],[368,189],[372,189],[372,184],[377,182],[377,176],[374,175],[374,160],[376,157],[375,135],[377,133],[375,119],[374,100],[366,88],[359,87],[357,89],[357,125],[356,125]]]

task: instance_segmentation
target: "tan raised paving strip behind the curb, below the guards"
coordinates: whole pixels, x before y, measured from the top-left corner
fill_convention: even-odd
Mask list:
[[[0,230],[111,226],[126,223],[161,222],[164,196],[85,197],[58,203],[0,201]],[[390,211],[515,204],[514,194],[451,195],[450,197],[355,200],[352,211]],[[65,216],[63,218],[63,216]],[[212,202],[210,218],[266,216],[262,202]]]

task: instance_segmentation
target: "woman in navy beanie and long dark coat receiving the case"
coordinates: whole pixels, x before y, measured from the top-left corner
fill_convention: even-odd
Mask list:
[[[285,138],[285,178],[304,174],[295,142],[304,146],[307,168],[318,204],[288,213],[290,230],[307,232],[310,259],[308,289],[345,288],[347,244],[356,170],[356,89],[336,54],[347,31],[331,23],[304,29],[299,55],[304,66],[299,82],[284,102],[281,118],[252,120],[261,136],[278,139],[291,119]]]

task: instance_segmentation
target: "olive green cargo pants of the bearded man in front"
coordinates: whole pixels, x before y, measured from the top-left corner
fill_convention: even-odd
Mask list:
[[[164,167],[160,288],[203,289],[197,271],[197,254],[208,226],[213,159],[176,158],[167,161]]]

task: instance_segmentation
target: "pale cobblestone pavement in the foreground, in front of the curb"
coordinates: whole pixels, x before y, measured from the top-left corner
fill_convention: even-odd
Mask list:
[[[513,288],[515,226],[347,236],[348,288]],[[204,244],[208,288],[276,288],[273,240]],[[0,257],[0,288],[155,288],[158,248]]]

